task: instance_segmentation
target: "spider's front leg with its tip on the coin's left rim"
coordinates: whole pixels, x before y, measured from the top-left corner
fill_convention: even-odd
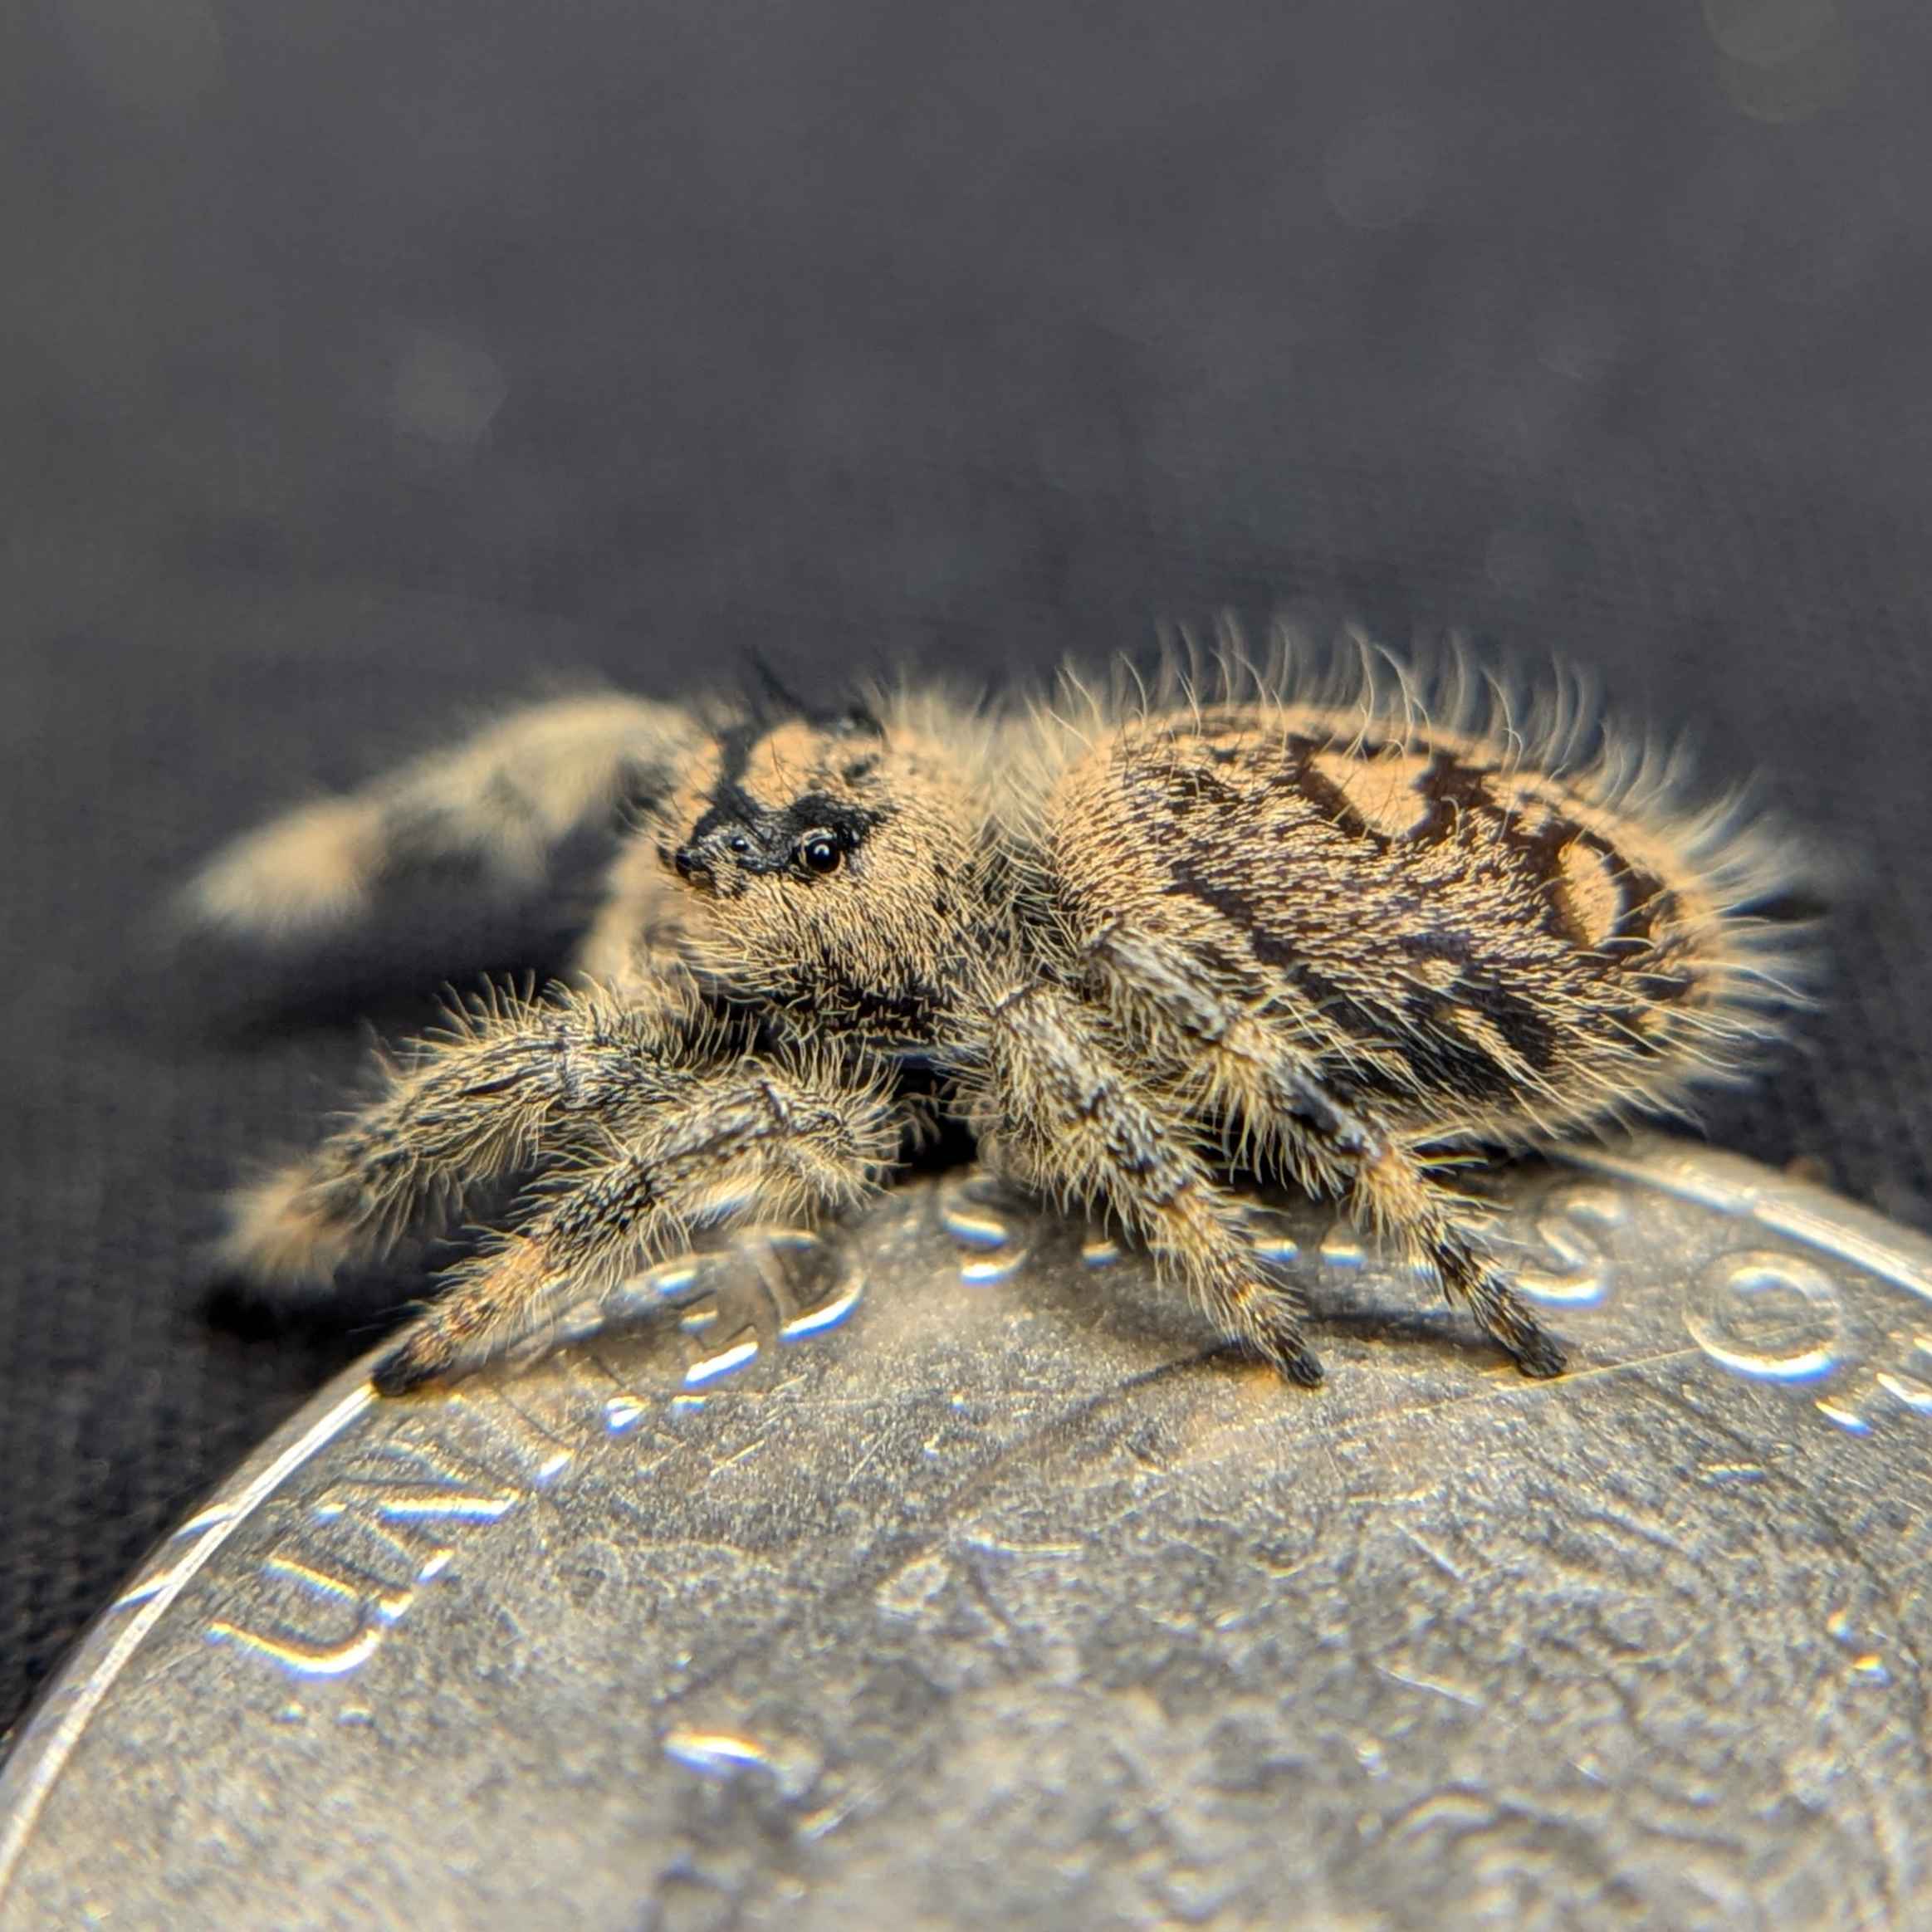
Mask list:
[[[808,1053],[715,1066],[618,1151],[566,1173],[529,1221],[456,1269],[377,1364],[375,1385],[402,1395],[475,1368],[696,1227],[842,1208],[877,1186],[898,1142],[883,1074]]]

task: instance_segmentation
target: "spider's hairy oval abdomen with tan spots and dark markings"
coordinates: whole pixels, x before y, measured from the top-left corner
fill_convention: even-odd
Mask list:
[[[1669,1101],[1762,1003],[1729,910],[1762,866],[1735,837],[1501,736],[1265,703],[1144,717],[1063,773],[1045,844],[1076,947],[1173,949],[1418,1132]],[[1101,991],[1173,1034],[1146,987]]]

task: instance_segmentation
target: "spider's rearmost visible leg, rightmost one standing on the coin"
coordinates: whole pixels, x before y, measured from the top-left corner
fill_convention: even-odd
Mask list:
[[[1279,1020],[1246,1010],[1180,947],[1157,939],[1107,931],[1088,960],[1128,1012],[1206,1068],[1209,1107],[1238,1121],[1308,1192],[1347,1192],[1350,1213],[1432,1267],[1524,1374],[1561,1374],[1563,1347],[1486,1254],[1478,1204],[1337,1097]]]

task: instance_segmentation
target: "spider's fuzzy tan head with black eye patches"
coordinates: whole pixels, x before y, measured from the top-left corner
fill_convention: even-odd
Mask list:
[[[916,1043],[958,978],[983,817],[960,748],[854,709],[721,732],[657,850],[736,997]]]

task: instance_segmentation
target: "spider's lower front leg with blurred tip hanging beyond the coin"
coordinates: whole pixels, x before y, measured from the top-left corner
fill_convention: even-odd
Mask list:
[[[464,1188],[527,1167],[572,1121],[641,1122],[705,1057],[696,1003],[649,1009],[562,987],[491,993],[386,1068],[383,1094],[301,1159],[238,1188],[224,1260],[257,1281],[327,1281],[377,1260]]]

